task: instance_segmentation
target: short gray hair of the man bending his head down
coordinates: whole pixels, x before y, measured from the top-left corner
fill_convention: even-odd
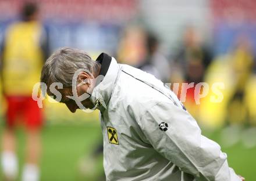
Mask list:
[[[61,48],[56,50],[45,62],[41,72],[41,82],[47,85],[61,82],[63,88],[72,87],[74,73],[83,68],[93,74],[99,70],[100,64],[91,59],[83,50]]]

